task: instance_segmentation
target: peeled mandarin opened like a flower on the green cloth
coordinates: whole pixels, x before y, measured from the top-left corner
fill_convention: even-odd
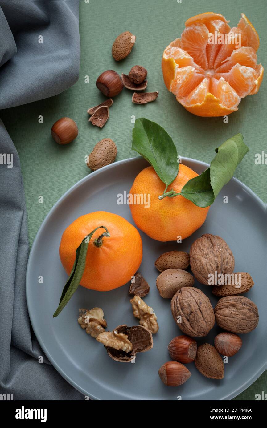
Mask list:
[[[165,85],[197,116],[238,110],[241,98],[256,94],[263,79],[255,28],[243,13],[237,27],[230,28],[228,22],[214,12],[189,18],[180,39],[162,56]]]

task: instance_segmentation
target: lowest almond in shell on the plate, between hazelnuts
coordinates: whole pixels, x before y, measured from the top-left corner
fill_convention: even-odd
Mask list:
[[[224,365],[219,352],[209,343],[198,347],[195,366],[202,375],[210,379],[223,379]]]

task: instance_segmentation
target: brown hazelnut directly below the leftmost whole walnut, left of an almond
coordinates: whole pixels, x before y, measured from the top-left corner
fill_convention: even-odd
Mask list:
[[[176,336],[168,344],[170,357],[180,363],[192,363],[197,354],[197,342],[188,336]]]

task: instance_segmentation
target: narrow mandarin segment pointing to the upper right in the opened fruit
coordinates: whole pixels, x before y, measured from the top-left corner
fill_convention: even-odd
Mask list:
[[[214,66],[213,68],[216,69],[220,65],[222,65],[222,62],[228,58],[228,56],[231,56],[231,53],[240,48],[241,46],[238,46],[238,42],[241,43],[241,46],[247,46],[247,38],[246,34],[240,30],[240,28],[233,27],[231,28],[230,32],[227,34],[226,43],[224,45],[220,45],[221,48],[219,50],[218,55],[216,56]]]

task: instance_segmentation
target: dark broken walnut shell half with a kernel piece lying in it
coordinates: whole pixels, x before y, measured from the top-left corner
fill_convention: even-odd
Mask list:
[[[117,351],[110,346],[106,346],[108,356],[115,361],[130,363],[135,359],[138,352],[146,352],[153,348],[153,338],[151,332],[144,326],[138,325],[128,327],[126,324],[120,325],[115,330],[128,336],[129,342],[132,344],[132,351]]]

